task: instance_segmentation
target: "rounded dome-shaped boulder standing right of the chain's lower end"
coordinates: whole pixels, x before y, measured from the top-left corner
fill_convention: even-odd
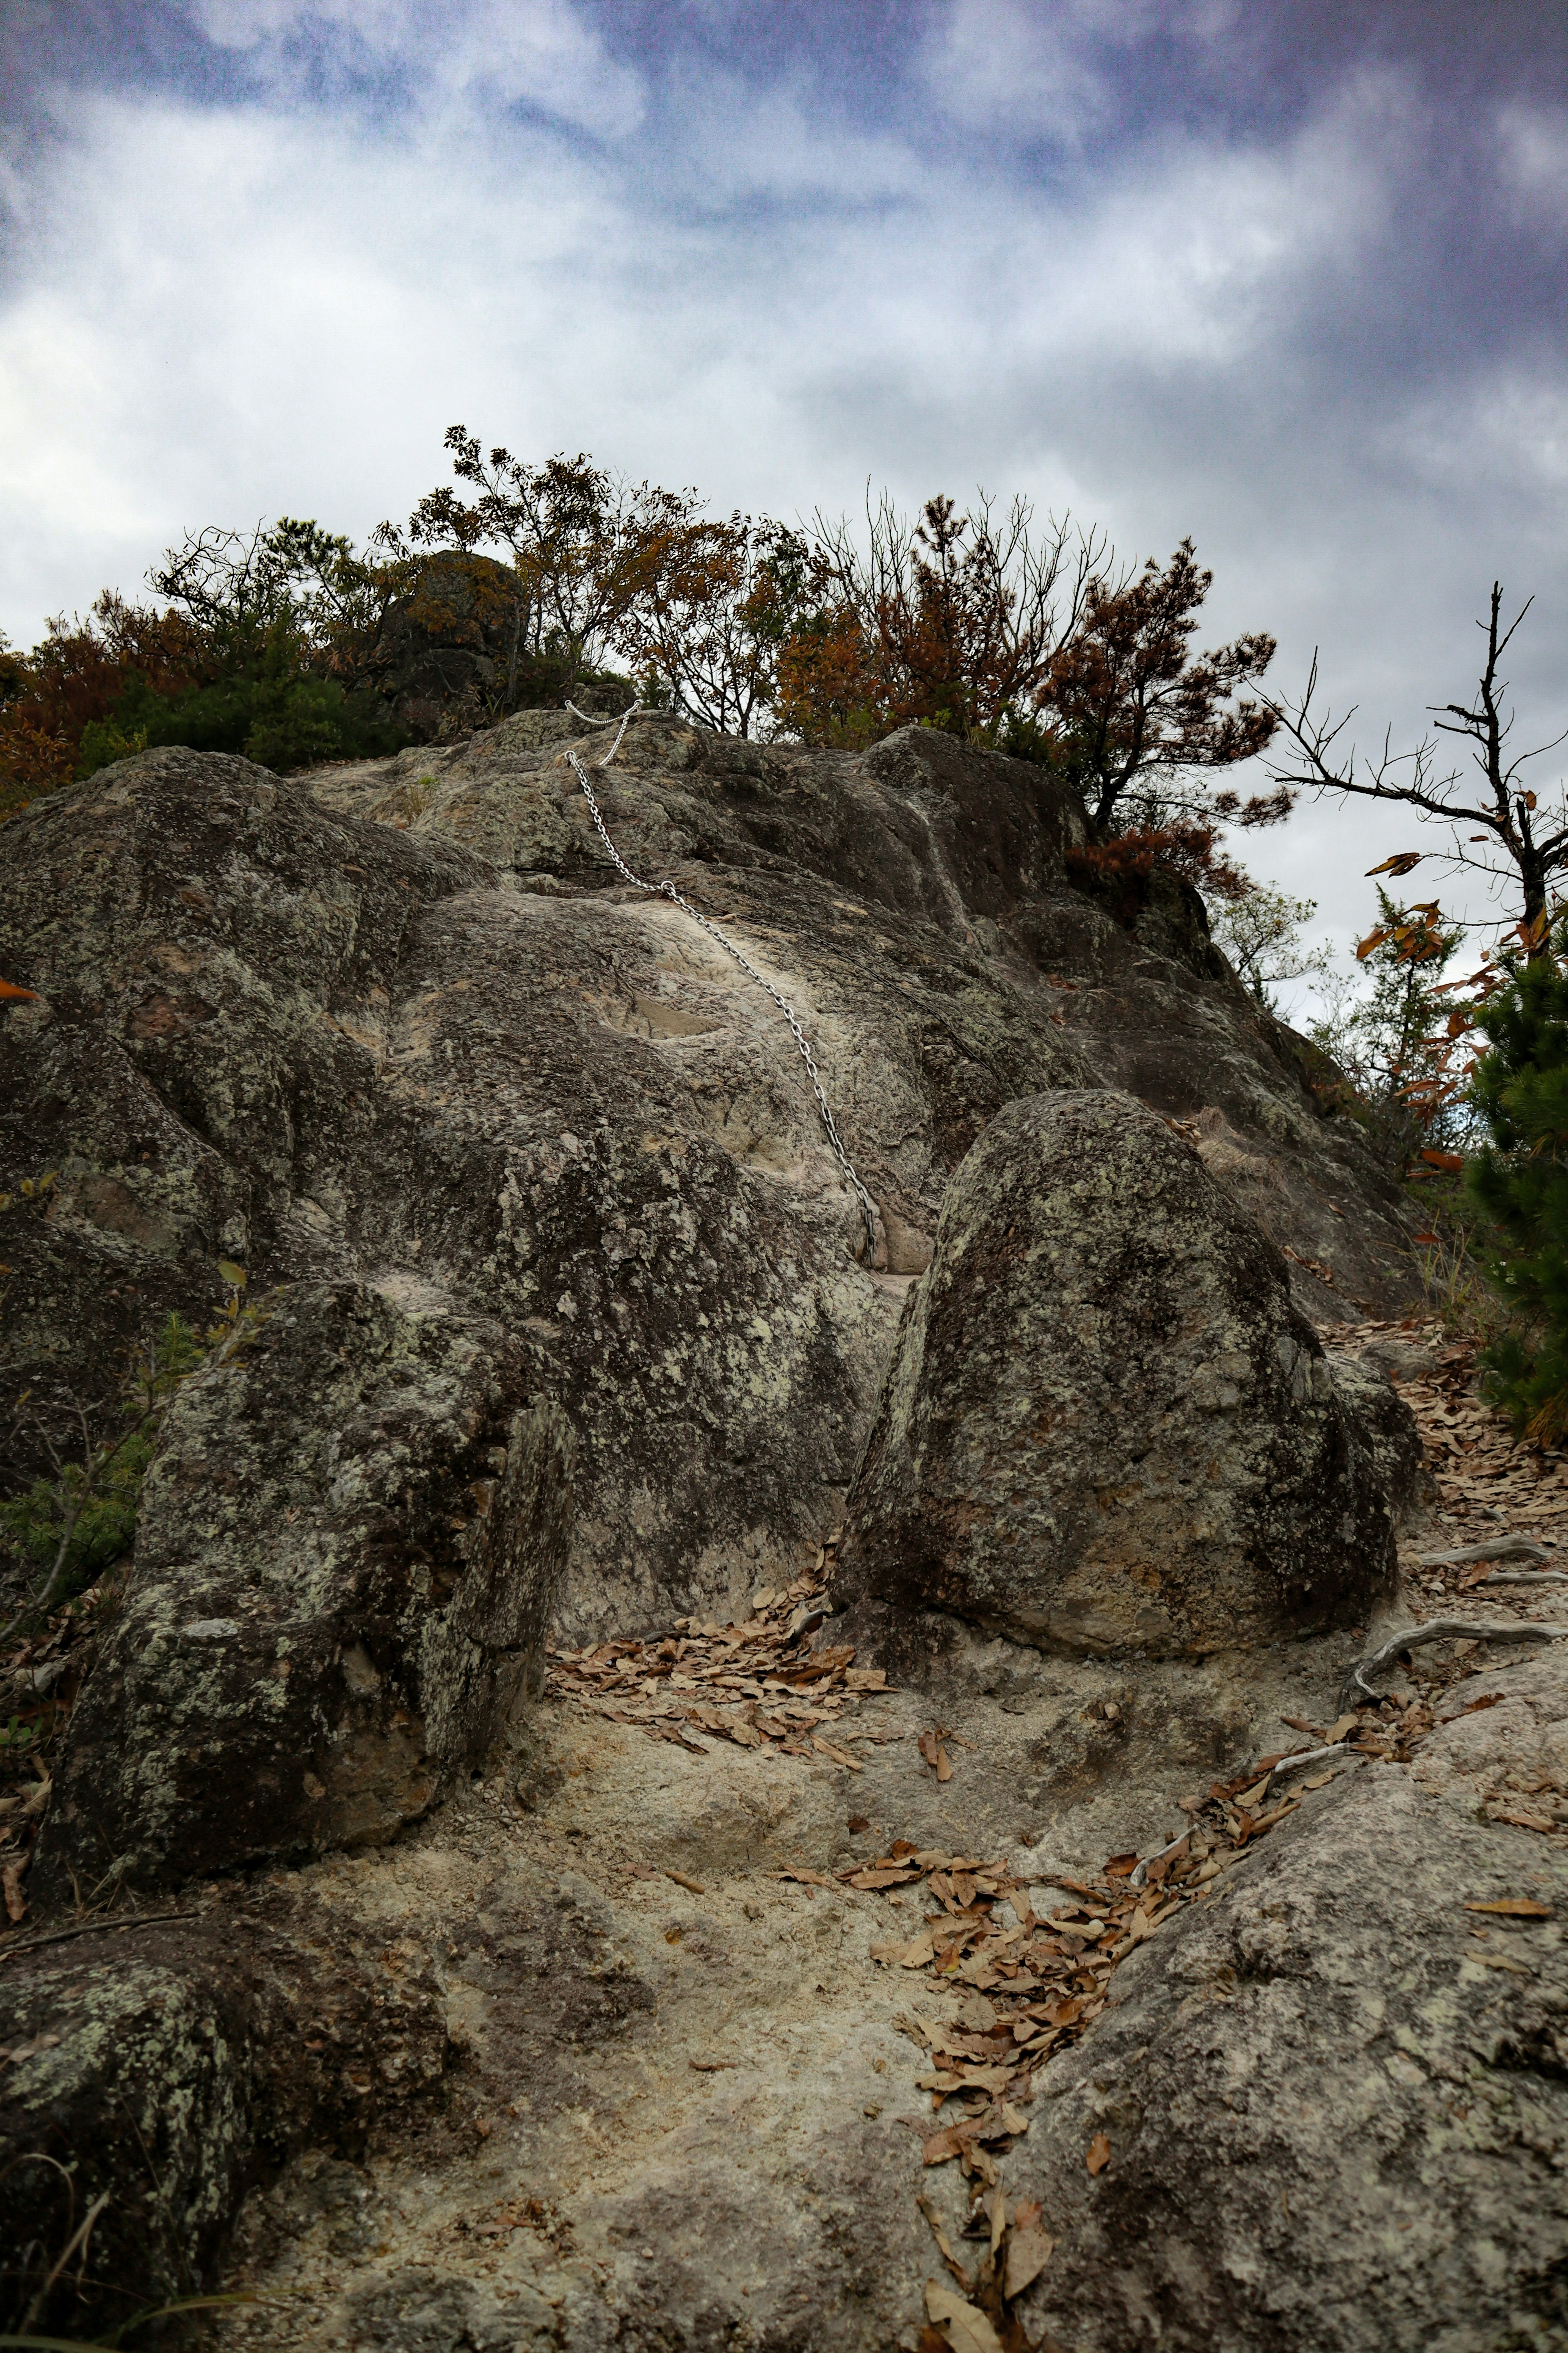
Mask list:
[[[1157,1113],[1060,1092],[952,1181],[839,1560],[1048,1649],[1227,1649],[1366,1617],[1394,1508],[1279,1249]]]

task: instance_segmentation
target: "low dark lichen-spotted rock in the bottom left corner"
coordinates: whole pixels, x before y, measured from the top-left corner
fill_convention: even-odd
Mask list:
[[[287,1897],[7,1951],[0,2038],[0,2327],[94,2339],[200,2292],[244,2188],[306,2137],[407,2137],[447,2068],[423,1955],[341,1920],[327,1941]]]

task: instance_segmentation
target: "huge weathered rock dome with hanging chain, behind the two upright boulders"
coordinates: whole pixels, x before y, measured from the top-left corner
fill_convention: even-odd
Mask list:
[[[578,1428],[564,1621],[590,1633],[811,1558],[947,1179],[1018,1096],[1107,1073],[1213,1113],[1281,1242],[1399,1297],[1354,1125],[1192,894],[1145,939],[1070,885],[1084,814],[1039,769],[933,729],[858,760],[642,718],[609,824],[802,1012],[882,1217],[889,1275],[858,1268],[776,1007],[618,882],[576,725],[520,713],[310,788],[148,753],[5,828],[0,960],[42,1000],[0,1019],[0,1184],[59,1169],[7,1219],[7,1379],[94,1393],[155,1315],[207,1320],[219,1254],[252,1297],[428,1273],[534,1351]]]

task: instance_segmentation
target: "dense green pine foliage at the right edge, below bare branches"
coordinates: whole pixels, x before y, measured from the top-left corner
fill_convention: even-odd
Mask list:
[[[1502,988],[1476,1009],[1488,1049],[1472,1104],[1490,1144],[1467,1184],[1500,1233],[1493,1273],[1516,1322],[1483,1362],[1495,1402],[1554,1445],[1568,1433],[1568,920],[1549,953],[1502,965]]]

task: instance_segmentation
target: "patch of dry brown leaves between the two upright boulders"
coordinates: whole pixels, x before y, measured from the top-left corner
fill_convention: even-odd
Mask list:
[[[616,1725],[637,1725],[656,1741],[693,1755],[708,1741],[769,1748],[795,1758],[827,1758],[860,1772],[851,1741],[900,1739],[879,1725],[837,1732],[844,1713],[889,1689],[879,1666],[858,1668],[846,1645],[811,1647],[823,1624],[818,1591],[832,1562],[825,1544],[811,1577],[764,1586],[743,1624],[675,1619],[675,1633],[646,1642],[595,1642],[550,1652],[550,1692]],[[823,1727],[835,1727],[827,1739]],[[940,1774],[947,1779],[947,1774]]]

